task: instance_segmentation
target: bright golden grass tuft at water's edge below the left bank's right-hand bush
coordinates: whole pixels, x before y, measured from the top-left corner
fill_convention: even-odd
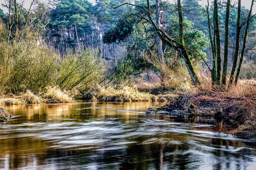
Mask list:
[[[43,98],[48,100],[48,103],[72,103],[75,101],[71,91],[62,91],[58,86],[45,87]]]

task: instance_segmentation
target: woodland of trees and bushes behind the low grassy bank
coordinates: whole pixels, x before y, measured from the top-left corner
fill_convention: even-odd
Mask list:
[[[0,9],[3,94],[47,85],[175,90],[201,82],[227,90],[238,78],[256,77],[256,21],[241,0],[23,4],[5,0],[8,12]]]

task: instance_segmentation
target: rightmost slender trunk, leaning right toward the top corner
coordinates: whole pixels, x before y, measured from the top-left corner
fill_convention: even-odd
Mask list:
[[[248,14],[248,19],[247,19],[247,23],[246,23],[246,27],[245,27],[245,31],[244,31],[243,48],[242,48],[240,61],[239,61],[238,68],[237,68],[237,75],[236,75],[236,79],[235,79],[235,85],[237,85],[237,82],[238,82],[238,79],[239,79],[239,76],[240,76],[240,72],[241,72],[241,66],[242,66],[242,63],[243,63],[243,56],[244,56],[244,51],[245,51],[245,46],[246,46],[246,37],[247,37],[248,28],[249,28],[249,24],[250,24],[250,17],[251,17],[252,10],[253,10],[253,2],[254,2],[254,0],[252,0],[250,12]]]

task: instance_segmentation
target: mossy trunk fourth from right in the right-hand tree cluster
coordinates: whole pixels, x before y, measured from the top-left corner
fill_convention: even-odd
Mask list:
[[[220,39],[220,27],[219,27],[219,15],[218,15],[218,4],[217,0],[214,0],[214,23],[215,23],[215,28],[214,32],[216,35],[216,48],[217,48],[217,76],[216,76],[216,84],[220,85],[220,80],[221,80],[221,39]]]

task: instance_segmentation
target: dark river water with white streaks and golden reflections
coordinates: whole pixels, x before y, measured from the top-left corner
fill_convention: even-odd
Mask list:
[[[13,105],[0,169],[256,169],[229,119],[145,114],[150,102]]]

